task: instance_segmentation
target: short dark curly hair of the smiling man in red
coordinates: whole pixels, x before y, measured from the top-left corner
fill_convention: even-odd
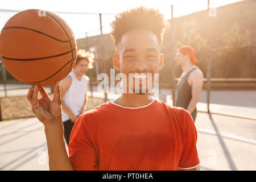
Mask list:
[[[112,32],[110,34],[114,40],[115,48],[117,48],[122,35],[131,30],[151,31],[158,38],[159,44],[161,44],[167,23],[163,14],[159,13],[159,10],[146,9],[141,6],[115,15],[115,20],[112,22],[111,27]]]

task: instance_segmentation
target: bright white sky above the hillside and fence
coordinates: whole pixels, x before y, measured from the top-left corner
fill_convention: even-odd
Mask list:
[[[224,6],[241,0],[210,0],[210,8]],[[62,14],[71,27],[76,39],[100,34],[100,16],[102,13],[103,33],[110,32],[110,23],[114,15],[134,7],[154,7],[163,13],[164,18],[171,19],[171,5],[174,5],[174,18],[207,9],[208,0],[0,0],[0,30],[15,12],[4,12],[1,9],[27,10],[40,9],[56,12],[84,12],[95,14]]]

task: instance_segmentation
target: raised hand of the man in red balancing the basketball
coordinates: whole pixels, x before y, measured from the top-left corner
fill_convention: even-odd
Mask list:
[[[27,100],[32,105],[32,111],[44,126],[60,124],[61,121],[61,98],[60,98],[60,81],[54,86],[53,99],[51,99],[46,90],[39,85],[35,85],[28,90]],[[38,98],[40,92],[42,98]]]

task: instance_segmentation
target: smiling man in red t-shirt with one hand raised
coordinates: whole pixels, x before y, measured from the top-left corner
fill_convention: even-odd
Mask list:
[[[143,82],[153,86],[155,77],[151,81],[149,75],[163,68],[159,46],[164,28],[163,15],[154,9],[140,7],[115,16],[113,65],[127,77],[123,79],[127,92],[80,115],[71,133],[69,156],[63,140],[59,82],[53,100],[38,85],[30,89],[27,98],[45,126],[50,169],[196,170],[200,160],[191,114],[148,97],[150,89],[143,92]]]

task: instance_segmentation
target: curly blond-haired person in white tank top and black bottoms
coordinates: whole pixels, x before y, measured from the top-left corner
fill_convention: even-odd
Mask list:
[[[76,119],[86,111],[88,102],[87,89],[89,77],[88,69],[93,68],[93,53],[80,49],[77,53],[76,64],[73,71],[60,82],[60,96],[62,100],[62,121],[64,125],[64,137],[69,144],[69,137]]]

